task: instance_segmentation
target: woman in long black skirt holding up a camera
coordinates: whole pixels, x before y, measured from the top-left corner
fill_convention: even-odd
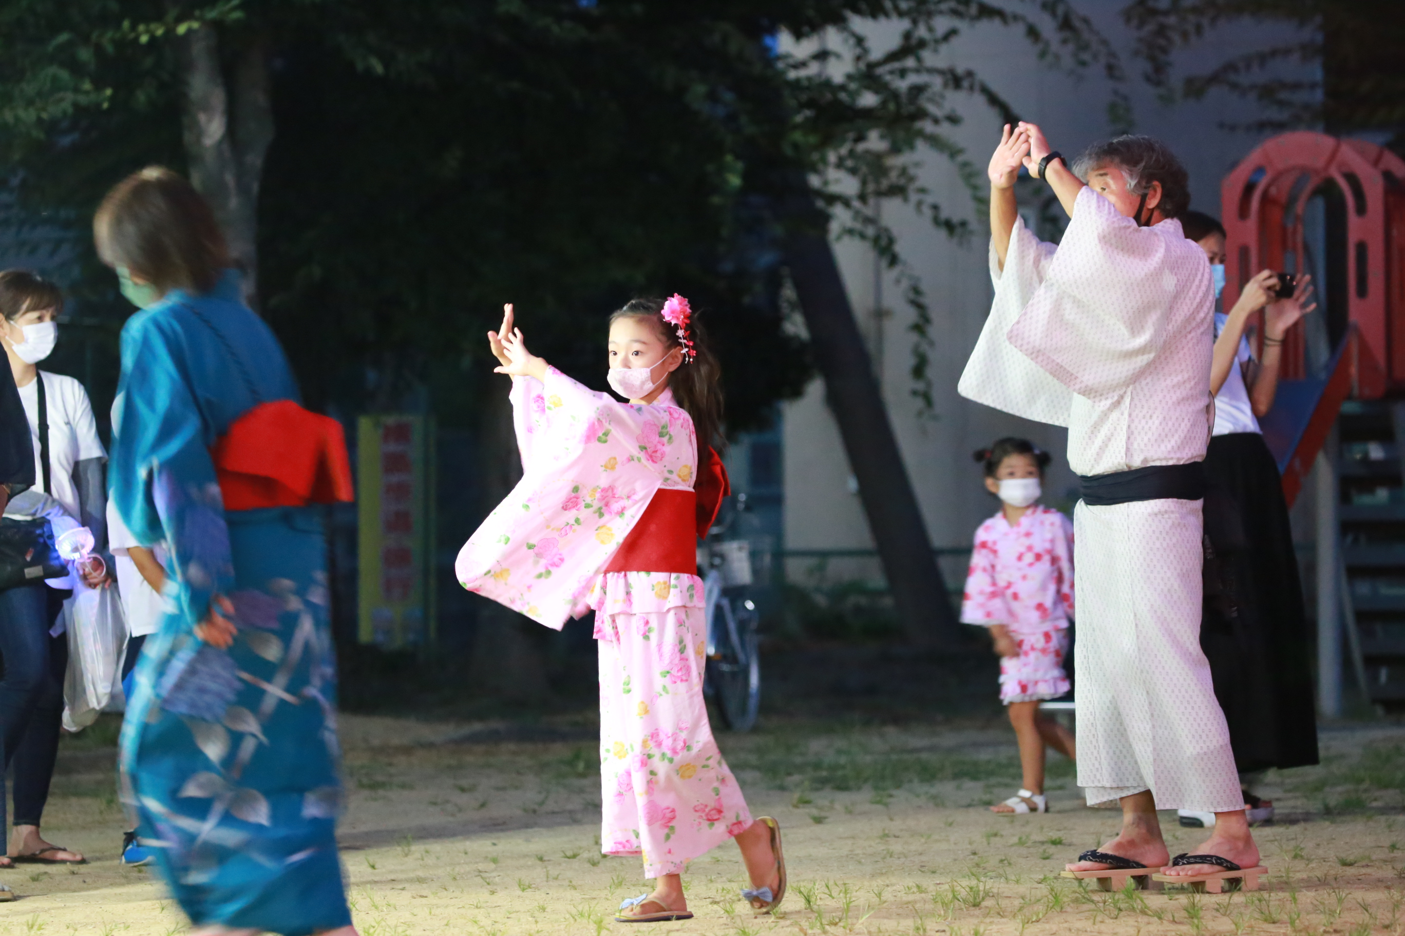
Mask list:
[[[1224,289],[1225,230],[1200,212],[1182,216],[1186,237],[1210,258],[1215,296]],[[1318,762],[1312,674],[1298,563],[1293,551],[1283,479],[1259,428],[1279,389],[1288,328],[1316,305],[1312,278],[1297,283],[1262,271],[1243,285],[1228,313],[1215,313],[1210,390],[1215,425],[1205,453],[1207,594],[1200,647],[1245,787],[1249,821],[1273,818],[1273,804],[1249,789],[1269,768]],[[1245,331],[1263,312],[1263,351],[1255,358]],[[1213,813],[1180,810],[1180,824],[1213,825]]]

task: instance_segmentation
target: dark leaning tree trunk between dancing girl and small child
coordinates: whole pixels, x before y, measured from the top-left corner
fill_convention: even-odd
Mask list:
[[[957,616],[839,275],[829,216],[804,188],[792,198],[787,222],[791,279],[898,616],[913,643],[953,646]]]

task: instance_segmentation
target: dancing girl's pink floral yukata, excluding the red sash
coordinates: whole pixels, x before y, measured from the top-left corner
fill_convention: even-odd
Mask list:
[[[458,580],[556,630],[594,609],[600,850],[680,874],[752,824],[702,700],[702,580],[603,570],[655,493],[693,490],[693,418],[669,390],[620,403],[555,368],[514,377],[511,401],[523,480],[459,550]]]

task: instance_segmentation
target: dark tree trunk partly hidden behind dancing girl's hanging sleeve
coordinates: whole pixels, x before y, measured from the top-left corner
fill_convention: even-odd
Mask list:
[[[478,438],[485,515],[507,497],[523,474],[504,385],[506,380],[495,379],[479,394],[483,401]],[[545,699],[549,686],[542,626],[495,601],[481,598],[476,603],[478,624],[468,672],[473,692],[509,702]]]

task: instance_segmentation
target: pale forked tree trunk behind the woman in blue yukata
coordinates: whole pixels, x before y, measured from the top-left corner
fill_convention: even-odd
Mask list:
[[[176,42],[185,73],[183,125],[190,181],[209,201],[232,260],[244,274],[244,299],[256,306],[259,182],[274,133],[268,46],[256,38],[239,52],[230,95],[215,27],[188,29]]]

